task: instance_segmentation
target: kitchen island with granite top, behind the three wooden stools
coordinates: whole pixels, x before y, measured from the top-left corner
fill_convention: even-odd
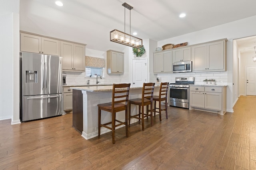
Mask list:
[[[112,101],[111,86],[77,86],[70,87],[73,90],[73,127],[82,134],[85,139],[98,136],[98,104]],[[159,85],[155,85],[154,95],[159,94]],[[130,88],[129,99],[141,98],[142,87]],[[131,107],[131,115],[135,115],[138,107]],[[102,111],[103,113],[104,111]],[[117,113],[116,118],[124,121],[123,113]],[[101,122],[107,123],[111,120],[111,113],[102,114]],[[131,119],[131,123],[138,119]],[[119,126],[120,128],[122,126]],[[109,129],[102,128],[101,134],[109,132]]]

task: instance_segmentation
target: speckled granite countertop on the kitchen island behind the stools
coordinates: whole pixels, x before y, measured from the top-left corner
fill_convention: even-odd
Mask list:
[[[155,84],[155,87],[158,87],[160,85]],[[87,91],[87,92],[105,92],[105,91],[112,91],[113,90],[113,85],[105,85],[105,86],[76,86],[76,87],[70,87],[71,89],[74,90],[81,90],[81,91]],[[143,87],[131,87],[130,90],[132,89],[142,89]]]

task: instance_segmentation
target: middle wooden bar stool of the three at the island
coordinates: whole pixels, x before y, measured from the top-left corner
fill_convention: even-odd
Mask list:
[[[129,125],[131,122],[131,117],[139,119],[142,121],[142,131],[144,131],[144,117],[150,116],[151,126],[153,126],[153,92],[155,83],[144,83],[142,88],[142,98],[136,98],[129,100]],[[139,112],[136,115],[131,115],[131,104],[139,106]],[[148,106],[150,105],[150,114],[148,114]],[[147,106],[146,114],[144,113],[144,106]]]

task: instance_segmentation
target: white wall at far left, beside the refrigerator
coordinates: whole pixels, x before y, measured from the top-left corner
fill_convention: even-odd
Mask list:
[[[20,123],[19,0],[0,1],[0,120]]]

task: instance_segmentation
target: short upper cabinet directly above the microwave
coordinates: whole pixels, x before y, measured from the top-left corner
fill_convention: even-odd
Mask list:
[[[190,61],[191,47],[172,50],[172,62]]]

